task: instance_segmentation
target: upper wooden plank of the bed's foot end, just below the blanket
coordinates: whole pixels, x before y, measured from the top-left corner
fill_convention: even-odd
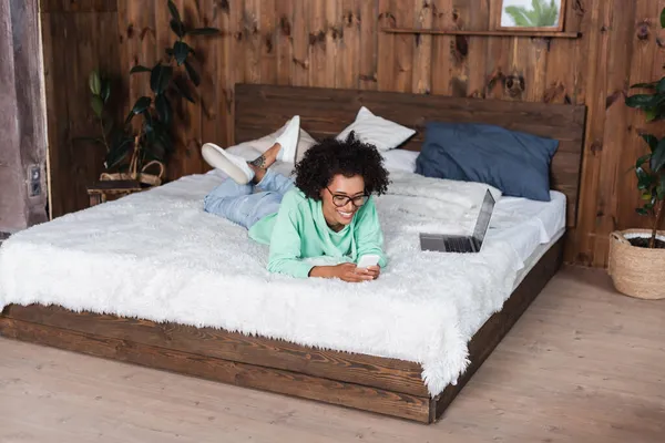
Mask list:
[[[317,350],[283,340],[249,337],[214,328],[155,323],[92,312],[75,313],[58,307],[12,306],[3,316],[91,336],[303,372],[417,396],[428,395],[421,380],[420,364],[402,360]]]

